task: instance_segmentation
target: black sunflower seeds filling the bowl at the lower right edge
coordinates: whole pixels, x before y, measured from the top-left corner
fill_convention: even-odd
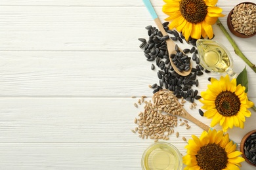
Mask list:
[[[244,144],[244,153],[246,158],[256,165],[256,133],[250,135]]]

